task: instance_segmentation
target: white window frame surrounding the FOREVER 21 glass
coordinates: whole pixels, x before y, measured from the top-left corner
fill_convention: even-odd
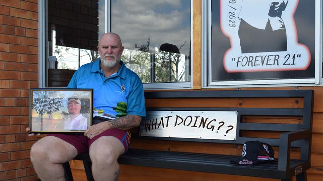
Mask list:
[[[322,85],[322,0],[315,0],[315,73],[308,79],[212,81],[211,0],[202,1],[202,88],[288,87]]]

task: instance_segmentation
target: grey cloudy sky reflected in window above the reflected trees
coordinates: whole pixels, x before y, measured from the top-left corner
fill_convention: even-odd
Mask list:
[[[150,51],[163,43],[181,48],[189,54],[190,0],[112,0],[111,31],[121,36],[125,48],[146,45]]]

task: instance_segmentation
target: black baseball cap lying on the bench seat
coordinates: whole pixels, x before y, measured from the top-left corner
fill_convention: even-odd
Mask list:
[[[248,141],[243,145],[241,157],[231,160],[232,164],[252,165],[274,161],[274,150],[272,147],[259,141]]]

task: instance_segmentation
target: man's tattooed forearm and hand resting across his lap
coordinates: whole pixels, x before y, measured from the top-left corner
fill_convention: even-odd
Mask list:
[[[126,115],[120,118],[116,118],[109,121],[104,121],[95,125],[90,126],[84,133],[84,136],[92,139],[93,137],[99,135],[105,130],[118,128],[121,130],[129,130],[130,128],[139,126],[141,121],[140,116],[136,115]]]

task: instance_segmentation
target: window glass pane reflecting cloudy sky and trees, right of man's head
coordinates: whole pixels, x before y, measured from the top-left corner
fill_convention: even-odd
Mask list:
[[[190,81],[190,9],[190,0],[111,0],[111,32],[143,83]]]

